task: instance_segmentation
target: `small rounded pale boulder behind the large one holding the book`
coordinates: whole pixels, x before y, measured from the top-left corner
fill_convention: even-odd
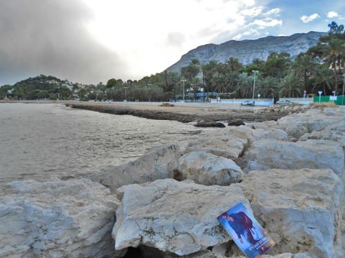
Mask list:
[[[194,151],[179,159],[183,179],[193,179],[206,186],[228,186],[242,180],[242,169],[231,160],[204,151]]]

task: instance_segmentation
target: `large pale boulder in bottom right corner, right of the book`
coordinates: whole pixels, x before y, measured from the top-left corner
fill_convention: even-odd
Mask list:
[[[342,181],[332,170],[251,171],[242,187],[277,246],[273,254],[342,257]]]

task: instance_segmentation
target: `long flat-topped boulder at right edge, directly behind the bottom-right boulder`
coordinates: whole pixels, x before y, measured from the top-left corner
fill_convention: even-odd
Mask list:
[[[344,150],[334,141],[255,141],[243,158],[248,161],[245,172],[268,168],[331,168],[342,178],[344,169]]]

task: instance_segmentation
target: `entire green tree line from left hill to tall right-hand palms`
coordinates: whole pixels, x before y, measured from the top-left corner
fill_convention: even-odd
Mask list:
[[[320,37],[316,46],[295,59],[287,53],[277,52],[270,53],[266,61],[254,59],[247,66],[233,57],[225,63],[210,60],[201,64],[193,59],[181,68],[180,74],[164,71],[139,80],[109,79],[106,84],[100,82],[83,88],[75,84],[72,90],[42,83],[41,75],[37,80],[30,78],[14,86],[2,86],[0,98],[8,95],[8,89],[14,88],[11,96],[18,99],[77,97],[84,100],[168,101],[182,98],[182,80],[186,93],[189,93],[187,99],[195,99],[201,91],[210,92],[206,97],[217,94],[221,98],[251,98],[254,79],[257,85],[255,95],[259,93],[263,98],[302,97],[304,90],[308,94],[322,90],[324,95],[332,95],[333,91],[340,95],[344,83],[344,26],[333,21],[328,28],[328,34]]]

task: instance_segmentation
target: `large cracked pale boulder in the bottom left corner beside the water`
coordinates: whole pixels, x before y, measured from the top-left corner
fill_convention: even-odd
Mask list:
[[[13,181],[0,197],[0,257],[114,257],[118,205],[88,179]]]

